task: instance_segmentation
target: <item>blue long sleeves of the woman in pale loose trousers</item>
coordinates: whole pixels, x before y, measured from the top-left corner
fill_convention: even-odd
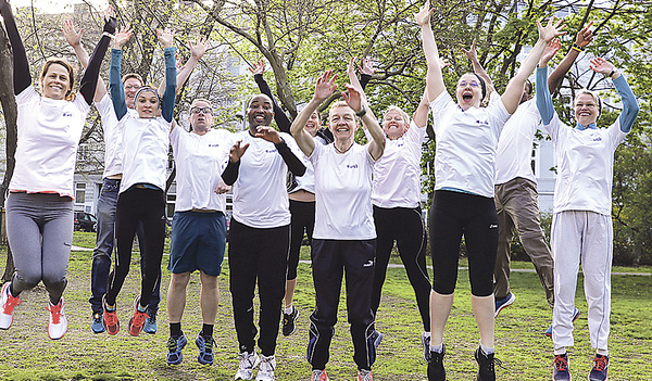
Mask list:
[[[623,112],[618,116],[620,130],[627,134],[631,130],[640,107],[624,75],[614,79],[613,82],[623,101]],[[552,105],[552,94],[548,89],[548,66],[537,68],[536,86],[537,109],[539,109],[543,125],[549,125],[554,116],[554,106]],[[578,124],[576,128],[584,129],[586,126]]]

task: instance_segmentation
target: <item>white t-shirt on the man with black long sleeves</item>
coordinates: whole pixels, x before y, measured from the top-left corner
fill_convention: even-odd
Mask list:
[[[288,148],[301,153],[291,135],[278,132]],[[277,228],[290,224],[286,176],[288,167],[273,142],[254,138],[249,130],[238,132],[233,142],[249,148],[240,158],[234,183],[234,218],[252,228]]]

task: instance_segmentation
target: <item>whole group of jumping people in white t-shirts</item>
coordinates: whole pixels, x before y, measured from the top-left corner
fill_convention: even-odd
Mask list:
[[[552,106],[551,93],[593,38],[591,24],[577,34],[567,55],[549,76],[547,66],[561,49],[557,37],[565,34],[564,25],[554,17],[546,25],[538,23],[539,39],[502,96],[477,61],[474,41],[464,50],[474,72],[460,77],[453,99],[442,77],[448,63],[439,56],[430,26],[434,10],[426,1],[416,14],[427,61],[426,88],[412,118],[390,106],[378,122],[364,93],[373,64],[362,61],[359,79],[353,58],[347,68],[349,84],[340,89],[343,100],[330,104],[327,128],[322,128],[319,107],[338,87],[331,69],[318,77],[313,98],[290,120],[263,78],[265,64],[261,61],[251,68],[261,93],[247,103],[249,128],[233,134],[212,128],[213,106],[206,99],[192,101],[190,131],[177,126],[173,117],[176,93],[204,54],[208,41],[190,43],[190,59],[177,67],[174,33],[159,30],[165,80],[155,88],[146,86],[138,74],[122,74],[122,49],[133,31],[117,29],[111,9],[90,56],[82,47],[82,31],[66,21],[64,38],[86,68],[79,90],[73,91],[73,67],[54,59],[43,65],[39,94],[32,85],[25,48],[7,0],[0,0],[0,11],[13,50],[18,104],[16,166],[7,201],[15,274],[0,292],[0,329],[12,325],[21,292],[42,281],[49,294],[49,336],[61,339],[67,330],[62,294],[73,238],[73,174],[82,130],[95,101],[105,140],[89,300],[95,333],[115,335],[120,331],[116,300],[129,271],[135,236],[141,246],[141,288],[127,330],[131,335],[158,331],[165,176],[172,147],[177,196],[167,266],[172,274],[168,365],[183,361],[187,339],[181,317],[195,270],[200,272],[203,320],[195,341],[198,361],[214,360],[217,277],[226,250],[226,193],[233,190],[228,266],[239,353],[236,380],[253,379],[256,368],[255,380],[275,379],[281,316],[283,334],[290,335],[300,313],[292,302],[304,232],[311,243],[315,290],[306,356],[312,381],[328,380],[326,365],[342,277],[358,380],[373,379],[372,366],[383,340],[375,321],[394,242],[423,322],[421,344],[428,380],[446,380],[444,328],[453,305],[463,237],[479,331],[474,354],[477,380],[496,380],[494,318],[515,301],[509,284],[514,230],[553,308],[552,325],[546,331],[554,346],[553,380],[570,380],[566,347],[574,343],[573,321],[580,314],[574,304],[580,263],[595,348],[589,379],[607,379],[613,155],[639,109],[625,77],[601,58],[592,59],[590,68],[611,78],[620,96],[623,112],[616,122],[605,129],[595,126],[602,101],[586,89],[574,100],[576,126],[561,122]],[[99,74],[111,40],[108,91]],[[537,91],[531,99],[532,85],[527,78],[535,68]],[[428,224],[432,283],[426,268],[419,183],[430,112],[437,143]],[[271,127],[273,119],[280,131]],[[369,141],[364,145],[354,140],[360,125]],[[552,250],[541,231],[529,165],[540,126],[554,143],[559,173]],[[256,283],[258,328],[253,319]]]

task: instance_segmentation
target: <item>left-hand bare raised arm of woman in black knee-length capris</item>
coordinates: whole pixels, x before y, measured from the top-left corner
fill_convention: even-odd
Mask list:
[[[424,53],[428,64],[428,74],[426,76],[426,89],[428,89],[428,99],[436,100],[439,94],[446,91],[441,67],[439,65],[439,52],[437,51],[437,42],[430,27],[430,15],[435,9],[430,9],[430,0],[415,15],[416,23],[422,30],[422,42],[424,45]]]

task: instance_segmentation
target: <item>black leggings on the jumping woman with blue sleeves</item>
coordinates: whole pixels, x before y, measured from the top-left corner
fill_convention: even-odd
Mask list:
[[[142,224],[142,246],[145,261],[140,284],[140,305],[147,306],[152,297],[161,274],[161,257],[165,240],[165,194],[162,190],[131,188],[120,193],[115,209],[115,240],[117,256],[113,271],[109,276],[106,303],[115,304],[115,299],[129,274],[131,245]]]

